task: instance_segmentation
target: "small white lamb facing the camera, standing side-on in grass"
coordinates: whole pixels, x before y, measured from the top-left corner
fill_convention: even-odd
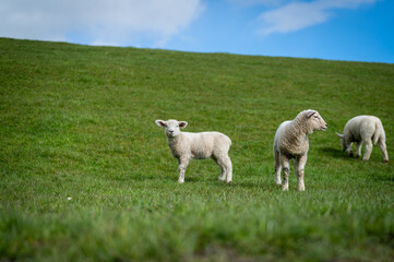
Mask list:
[[[227,135],[219,132],[181,132],[180,128],[188,126],[184,121],[170,119],[168,121],[156,120],[155,122],[165,128],[168,146],[174,157],[178,159],[178,182],[184,182],[184,171],[191,158],[214,159],[222,169],[219,180],[224,181],[227,178],[227,182],[232,181],[232,166],[228,156],[231,140]]]

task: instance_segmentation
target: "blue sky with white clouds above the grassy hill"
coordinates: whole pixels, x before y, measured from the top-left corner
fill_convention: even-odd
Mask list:
[[[0,36],[394,63],[394,1],[2,0]]]

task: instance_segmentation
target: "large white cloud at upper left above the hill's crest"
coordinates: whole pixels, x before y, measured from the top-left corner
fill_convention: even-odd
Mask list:
[[[201,0],[2,0],[0,36],[128,45],[147,37],[164,45],[204,10]]]

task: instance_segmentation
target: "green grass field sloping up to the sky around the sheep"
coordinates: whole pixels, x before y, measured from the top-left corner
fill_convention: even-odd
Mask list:
[[[0,38],[0,261],[393,261],[393,102],[394,64]],[[274,134],[308,108],[329,129],[282,192]],[[341,151],[357,115],[389,164]],[[231,138],[231,184],[212,160],[177,183],[169,118]]]

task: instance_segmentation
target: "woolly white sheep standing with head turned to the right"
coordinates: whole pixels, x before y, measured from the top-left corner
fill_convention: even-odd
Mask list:
[[[280,184],[280,169],[283,168],[284,191],[288,190],[289,160],[295,158],[294,165],[298,179],[298,190],[305,191],[303,168],[307,164],[309,150],[308,134],[314,130],[326,130],[327,124],[317,110],[303,110],[292,120],[280,123],[274,139],[275,182]]]

